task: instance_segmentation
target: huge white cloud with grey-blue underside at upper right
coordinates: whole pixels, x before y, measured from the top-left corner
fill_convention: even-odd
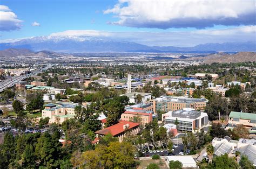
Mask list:
[[[255,25],[255,0],[119,0],[104,11],[119,18],[112,24],[131,27]]]

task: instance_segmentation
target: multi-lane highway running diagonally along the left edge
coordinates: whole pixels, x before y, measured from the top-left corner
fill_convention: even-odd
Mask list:
[[[26,78],[29,78],[29,76],[32,76],[32,75],[35,75],[37,73],[41,73],[47,69],[49,69],[50,67],[52,67],[52,65],[47,65],[46,67],[42,68],[41,71],[35,71],[35,72],[32,72],[30,74],[25,74],[25,75],[22,75],[22,76],[14,76],[12,78],[9,78],[9,79],[6,79],[6,80],[3,80],[2,82],[0,82],[0,93],[6,89],[6,88],[10,88],[12,86],[15,85],[16,82],[18,81],[23,81],[24,79]]]

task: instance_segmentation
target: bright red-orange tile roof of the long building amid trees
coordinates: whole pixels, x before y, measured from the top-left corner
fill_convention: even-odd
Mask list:
[[[108,128],[96,131],[96,134],[107,135],[110,133],[112,136],[116,136],[122,132],[124,132],[124,125],[129,124],[128,129],[135,128],[139,125],[139,123],[127,122],[127,121],[119,121],[119,123],[109,126]],[[126,129],[127,130],[127,129]]]

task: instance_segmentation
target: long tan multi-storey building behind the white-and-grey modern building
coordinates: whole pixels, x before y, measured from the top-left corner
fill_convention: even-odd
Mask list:
[[[184,108],[192,108],[196,110],[204,110],[208,100],[206,98],[187,98],[187,97],[171,97],[163,96],[151,100],[153,111],[175,111]]]

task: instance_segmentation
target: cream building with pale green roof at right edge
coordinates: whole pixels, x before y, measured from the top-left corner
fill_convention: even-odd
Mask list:
[[[256,114],[248,112],[231,111],[228,116],[228,128],[238,124],[244,125],[246,128],[252,129],[256,126]]]

